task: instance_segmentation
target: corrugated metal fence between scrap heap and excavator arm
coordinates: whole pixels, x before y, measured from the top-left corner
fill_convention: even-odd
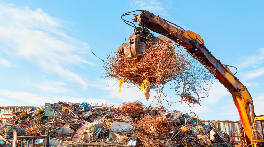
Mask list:
[[[221,124],[221,131],[227,133],[230,137],[234,138],[235,140],[239,140],[239,121],[232,121],[232,120],[201,120],[202,123],[209,125],[210,121],[220,122]]]

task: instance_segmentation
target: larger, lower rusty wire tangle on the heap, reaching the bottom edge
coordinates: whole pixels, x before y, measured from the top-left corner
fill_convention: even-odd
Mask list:
[[[136,124],[138,146],[194,146],[197,141],[191,130],[182,133],[182,129],[167,118],[160,116],[145,116]]]

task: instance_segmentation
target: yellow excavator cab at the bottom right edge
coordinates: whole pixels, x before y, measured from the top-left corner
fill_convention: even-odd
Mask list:
[[[264,115],[254,116],[251,142],[264,147]]]

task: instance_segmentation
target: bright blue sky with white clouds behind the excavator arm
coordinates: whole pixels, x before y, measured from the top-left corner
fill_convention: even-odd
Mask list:
[[[0,105],[44,105],[60,101],[113,103],[140,100],[137,88],[118,91],[103,80],[101,59],[115,52],[133,28],[123,13],[149,9],[204,39],[253,97],[257,115],[264,103],[263,1],[0,1]],[[130,19],[129,17],[127,17]],[[234,71],[234,70],[232,70]],[[173,97],[173,90],[167,91]],[[231,94],[215,82],[196,106],[201,119],[238,120]],[[153,97],[150,98],[150,100]],[[167,98],[170,102],[179,99]],[[173,103],[171,109],[189,111]]]

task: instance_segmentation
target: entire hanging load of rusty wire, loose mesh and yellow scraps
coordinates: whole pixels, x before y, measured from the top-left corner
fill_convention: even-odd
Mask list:
[[[141,87],[147,101],[150,89],[155,90],[155,98],[160,99],[161,94],[166,96],[163,92],[166,84],[175,89],[181,102],[187,104],[200,104],[200,97],[209,95],[215,79],[215,68],[206,65],[195,55],[188,55],[178,43],[166,37],[147,39],[138,44],[144,46],[145,50],[140,57],[137,56],[137,60],[128,58],[130,55],[127,57],[124,49],[111,53],[103,60],[106,71],[104,78],[119,80],[120,89],[123,84]],[[124,48],[128,48],[127,45]]]

